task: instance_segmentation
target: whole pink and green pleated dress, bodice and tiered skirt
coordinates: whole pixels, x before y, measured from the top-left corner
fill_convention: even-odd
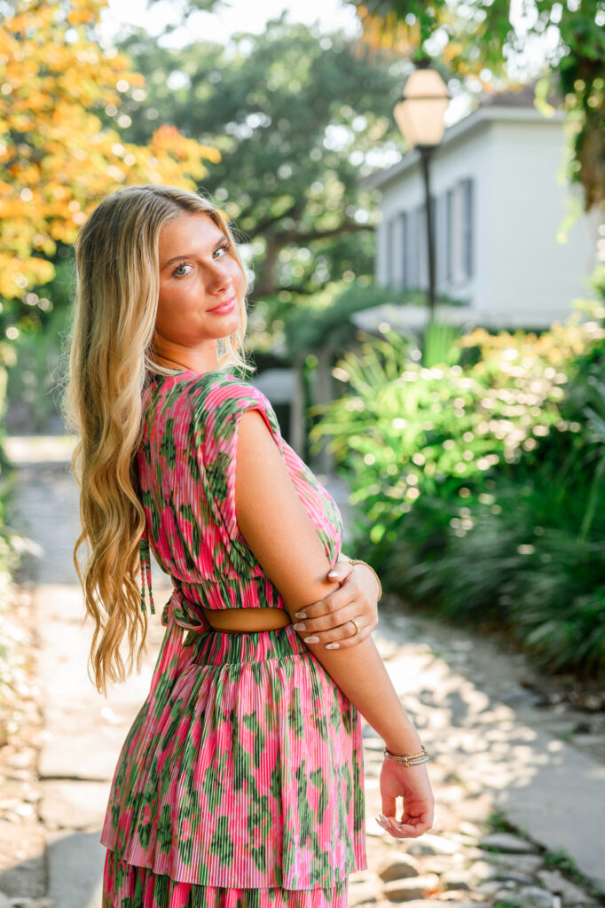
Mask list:
[[[260,390],[224,371],[148,377],[141,607],[146,592],[154,613],[150,547],[174,589],[110,789],[102,908],[345,908],[348,875],[367,867],[356,707],[292,624],[223,633],[200,608],[285,610],[235,517],[246,410],[262,414],[331,567],[340,553],[340,511]]]

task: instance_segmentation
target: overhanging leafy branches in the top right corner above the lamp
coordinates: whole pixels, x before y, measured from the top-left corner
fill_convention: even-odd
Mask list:
[[[349,2],[362,22],[362,40],[374,50],[440,60],[452,76],[488,92],[494,77],[508,78],[512,55],[548,33],[549,69],[536,85],[536,105],[550,114],[549,89],[560,92],[570,179],[583,187],[585,211],[605,203],[605,0],[529,0],[522,34],[511,22],[509,0]]]

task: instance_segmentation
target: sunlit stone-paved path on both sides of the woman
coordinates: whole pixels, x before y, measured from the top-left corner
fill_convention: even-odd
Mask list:
[[[19,890],[15,875],[7,888],[3,881],[9,877],[0,873],[0,898],[4,892],[15,908],[99,908],[106,798],[124,735],[149,687],[164,634],[163,597],[171,587],[154,563],[158,607],[150,617],[143,671],[111,688],[107,698],[99,695],[87,675],[92,626],[82,624],[72,562],[79,532],[77,489],[56,448],[45,455],[39,439],[36,445],[35,455],[23,440],[15,443],[15,451],[20,449],[24,462],[18,500],[37,551],[35,615],[45,715],[39,817],[48,881],[41,898],[26,887]],[[328,478],[320,479],[329,485]],[[334,492],[346,530],[349,511],[342,488]],[[375,822],[381,811],[382,740],[364,722],[368,870],[352,874],[349,905],[596,904],[545,862],[543,846],[564,847],[580,870],[605,888],[599,816],[603,766],[551,733],[548,718],[518,682],[519,666],[497,646],[459,628],[403,615],[388,598],[374,638],[403,705],[434,754],[429,771],[437,810],[431,833],[418,840],[393,839]],[[517,834],[489,837],[487,821],[495,809],[518,827]],[[25,817],[11,822],[25,824]],[[0,834],[4,830],[0,816]],[[491,850],[496,846],[499,852]]]

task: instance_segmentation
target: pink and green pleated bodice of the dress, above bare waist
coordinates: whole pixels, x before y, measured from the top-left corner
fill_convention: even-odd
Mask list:
[[[142,569],[154,611],[152,548],[160,567],[173,579],[175,607],[184,612],[183,627],[200,620],[196,605],[285,609],[283,597],[237,526],[235,453],[246,410],[261,412],[331,567],[340,553],[340,510],[283,440],[273,407],[261,390],[223,371],[153,374],[144,388],[143,433],[137,451],[146,525]]]

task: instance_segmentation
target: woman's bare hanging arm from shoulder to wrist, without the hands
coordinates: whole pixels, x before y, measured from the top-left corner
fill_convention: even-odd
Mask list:
[[[235,511],[240,532],[294,613],[333,591],[328,558],[256,410],[240,420],[235,462]],[[395,754],[412,754],[420,739],[392,686],[371,637],[346,650],[307,643],[313,655]]]

